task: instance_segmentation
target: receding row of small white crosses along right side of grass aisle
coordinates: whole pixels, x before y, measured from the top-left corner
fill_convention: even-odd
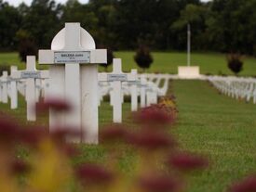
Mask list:
[[[223,95],[236,99],[251,99],[256,104],[256,79],[244,77],[220,77],[207,78]]]

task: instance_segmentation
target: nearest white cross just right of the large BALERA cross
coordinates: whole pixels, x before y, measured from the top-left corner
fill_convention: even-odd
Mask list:
[[[100,81],[107,81],[112,83],[113,94],[113,122],[122,122],[122,82],[135,82],[137,81],[136,73],[124,73],[122,71],[122,60],[121,58],[114,58],[113,60],[113,71],[111,73],[99,74]]]

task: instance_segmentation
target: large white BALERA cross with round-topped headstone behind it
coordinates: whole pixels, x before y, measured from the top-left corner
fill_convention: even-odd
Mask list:
[[[72,142],[98,143],[98,66],[106,63],[105,49],[95,49],[91,35],[80,23],[66,23],[51,43],[51,50],[39,50],[40,64],[49,67],[48,98],[66,99],[72,109],[66,114],[50,110],[50,131],[70,126],[85,133]],[[83,65],[82,65],[83,64]]]

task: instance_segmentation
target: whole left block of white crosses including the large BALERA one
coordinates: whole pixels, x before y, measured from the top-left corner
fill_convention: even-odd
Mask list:
[[[8,76],[3,72],[0,78],[0,101],[11,109],[18,108],[18,93],[25,97],[27,120],[35,121],[34,110],[39,97],[63,99],[72,109],[67,112],[49,111],[49,131],[69,127],[81,131],[81,136],[68,138],[75,143],[98,143],[98,106],[101,98],[110,95],[114,122],[122,122],[124,96],[131,96],[131,110],[157,103],[158,96],[164,96],[168,89],[168,75],[137,74],[122,71],[120,58],[114,59],[114,70],[98,73],[99,63],[106,63],[105,49],[96,49],[93,38],[80,27],[80,23],[66,23],[51,43],[50,50],[39,50],[39,64],[49,65],[49,70],[36,70],[35,57],[27,57],[26,70],[11,67]],[[160,87],[161,80],[165,83]]]

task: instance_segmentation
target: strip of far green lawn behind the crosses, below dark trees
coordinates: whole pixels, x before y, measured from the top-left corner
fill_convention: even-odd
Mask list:
[[[137,68],[133,60],[134,52],[115,52],[115,58],[123,59],[123,69],[131,70]],[[154,72],[177,73],[178,66],[186,65],[186,53],[181,52],[154,52],[154,63],[150,70]],[[20,63],[17,53],[1,53],[0,65],[18,65],[19,69],[24,69],[24,64]],[[192,64],[200,66],[202,74],[233,74],[226,64],[226,57],[217,53],[194,53],[192,54]],[[46,68],[41,66],[40,69]],[[100,67],[100,70],[103,70]],[[109,69],[111,70],[111,68]],[[256,76],[256,59],[244,58],[244,70],[240,75]]]

